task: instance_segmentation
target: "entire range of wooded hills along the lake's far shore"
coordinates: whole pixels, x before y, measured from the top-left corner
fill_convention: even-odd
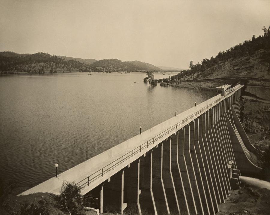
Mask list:
[[[118,59],[80,59],[50,55],[48,53],[18,54],[0,52],[0,71],[5,73],[57,73],[57,72],[117,72],[161,71],[154,65],[140,61],[122,62]]]

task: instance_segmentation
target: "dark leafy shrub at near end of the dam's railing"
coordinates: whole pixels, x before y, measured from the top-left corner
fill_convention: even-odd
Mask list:
[[[75,182],[64,182],[59,196],[59,203],[64,210],[70,214],[82,214],[83,196],[81,195],[82,187]]]

